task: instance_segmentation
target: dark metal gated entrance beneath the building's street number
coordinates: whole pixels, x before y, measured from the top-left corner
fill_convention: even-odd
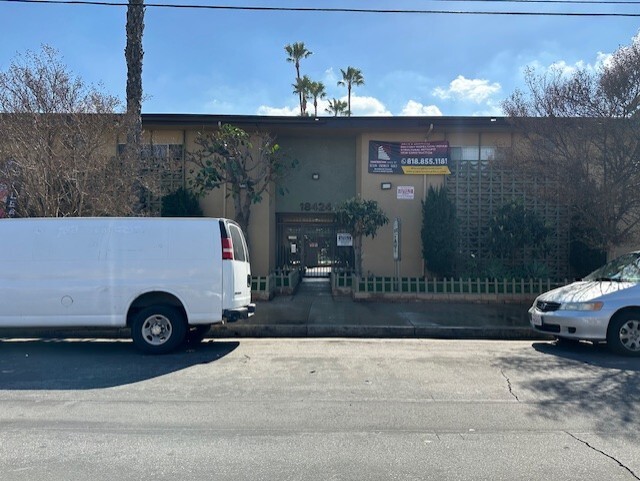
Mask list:
[[[304,277],[329,277],[353,266],[353,249],[337,247],[333,214],[278,214],[277,262],[299,268]]]

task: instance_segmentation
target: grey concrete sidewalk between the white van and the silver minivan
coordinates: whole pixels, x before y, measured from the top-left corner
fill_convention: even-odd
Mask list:
[[[529,305],[472,302],[380,302],[334,297],[325,279],[305,279],[292,296],[258,302],[256,314],[214,326],[212,337],[417,337],[541,339]]]

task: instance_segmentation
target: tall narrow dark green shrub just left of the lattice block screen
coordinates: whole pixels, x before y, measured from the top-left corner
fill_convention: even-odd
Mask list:
[[[443,187],[429,187],[422,203],[422,256],[427,269],[437,276],[453,275],[456,246],[456,206]]]

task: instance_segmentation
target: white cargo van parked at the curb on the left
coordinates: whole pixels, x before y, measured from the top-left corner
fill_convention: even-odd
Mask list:
[[[130,327],[166,353],[255,312],[249,252],[228,219],[2,219],[0,327]]]

